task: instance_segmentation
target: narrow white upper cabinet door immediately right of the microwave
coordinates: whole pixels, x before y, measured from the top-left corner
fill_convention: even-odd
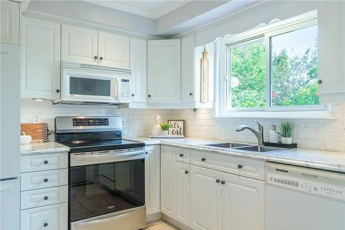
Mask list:
[[[146,41],[130,38],[132,102],[146,102]]]

